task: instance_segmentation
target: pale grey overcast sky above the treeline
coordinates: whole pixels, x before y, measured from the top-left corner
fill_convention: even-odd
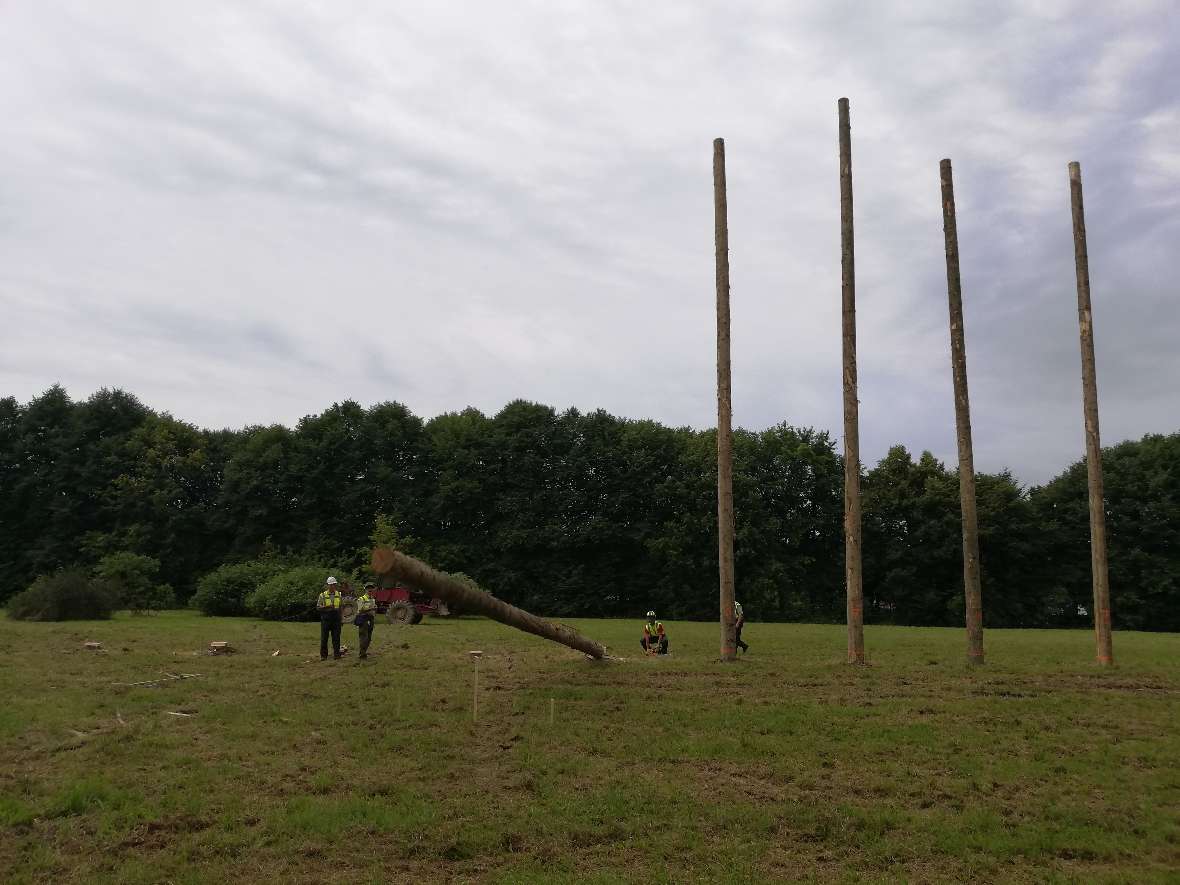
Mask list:
[[[951,157],[976,466],[1043,481],[1084,445],[1069,160],[1103,441],[1180,430],[1178,84],[1175,0],[0,0],[0,395],[712,426],[721,136],[734,420],[840,439],[847,96],[864,460],[956,461]]]

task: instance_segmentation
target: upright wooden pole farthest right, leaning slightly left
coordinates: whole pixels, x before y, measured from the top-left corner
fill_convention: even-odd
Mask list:
[[[1100,664],[1114,663],[1110,641],[1110,579],[1107,569],[1102,442],[1099,438],[1099,385],[1094,369],[1094,317],[1090,312],[1090,260],[1086,248],[1082,168],[1069,164],[1074,212],[1074,266],[1077,271],[1077,327],[1082,345],[1082,412],[1086,417],[1086,472],[1090,492],[1090,570],[1094,582],[1094,638]]]

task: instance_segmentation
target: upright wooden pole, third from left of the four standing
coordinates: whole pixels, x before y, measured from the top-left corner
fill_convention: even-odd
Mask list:
[[[955,432],[959,450],[959,504],[963,510],[963,596],[966,603],[966,660],[983,663],[983,594],[979,589],[979,524],[975,509],[975,453],[966,388],[963,289],[959,283],[958,225],[951,162],[938,164],[943,185],[943,238],[946,244],[946,295],[950,302],[951,375],[955,381]]]

